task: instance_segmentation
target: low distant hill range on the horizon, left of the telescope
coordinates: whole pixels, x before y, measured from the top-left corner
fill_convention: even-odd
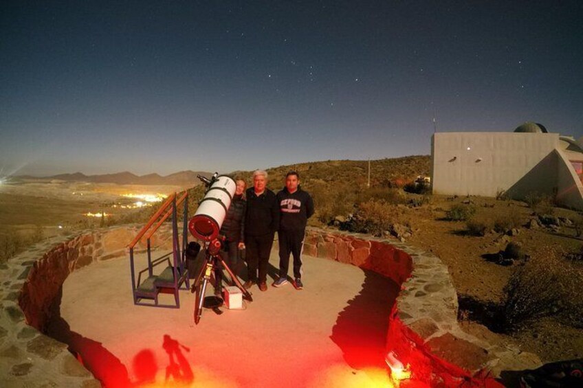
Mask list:
[[[161,176],[159,174],[146,174],[138,176],[128,171],[118,172],[115,174],[85,175],[82,172],[74,174],[58,174],[53,176],[44,176],[43,178],[33,176],[16,176],[18,179],[35,179],[35,180],[58,180],[67,182],[89,182],[89,183],[117,183],[118,185],[179,185],[192,186],[200,183],[197,175],[210,176],[212,172],[206,171],[181,171],[174,174]]]

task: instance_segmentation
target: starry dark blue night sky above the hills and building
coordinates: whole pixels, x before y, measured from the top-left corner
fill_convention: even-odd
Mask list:
[[[428,155],[583,135],[583,1],[2,1],[3,174]]]

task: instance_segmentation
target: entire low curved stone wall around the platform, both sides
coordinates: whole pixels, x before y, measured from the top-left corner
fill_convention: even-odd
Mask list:
[[[171,249],[165,225],[153,247]],[[99,260],[126,255],[138,227],[85,231],[52,238],[0,264],[0,386],[100,387],[67,345],[42,334],[69,273]],[[137,245],[145,250],[145,242]],[[410,364],[425,382],[458,385],[480,368],[536,367],[533,354],[492,346],[463,332],[456,321],[457,298],[447,267],[431,253],[353,233],[309,229],[304,253],[369,269],[401,284],[388,322],[387,352]]]

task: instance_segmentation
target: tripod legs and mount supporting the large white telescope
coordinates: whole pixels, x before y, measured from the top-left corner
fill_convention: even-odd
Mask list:
[[[195,324],[197,325],[201,319],[204,294],[206,291],[206,286],[210,281],[211,273],[214,273],[215,282],[222,282],[222,275],[217,276],[217,271],[221,271],[221,267],[219,265],[222,265],[223,269],[227,271],[236,287],[239,288],[239,290],[241,290],[241,293],[243,293],[243,299],[253,301],[251,293],[248,290],[246,290],[245,287],[243,287],[243,284],[239,282],[239,279],[236,277],[236,275],[234,275],[233,271],[229,268],[227,263],[225,263],[225,260],[223,260],[223,258],[219,254],[221,245],[222,245],[221,240],[218,239],[208,243],[208,245],[206,246],[206,258],[204,260],[203,265],[201,266],[199,273],[197,274],[197,277],[195,278],[195,282],[192,284],[192,288],[190,288],[190,292],[195,293],[194,315]]]

